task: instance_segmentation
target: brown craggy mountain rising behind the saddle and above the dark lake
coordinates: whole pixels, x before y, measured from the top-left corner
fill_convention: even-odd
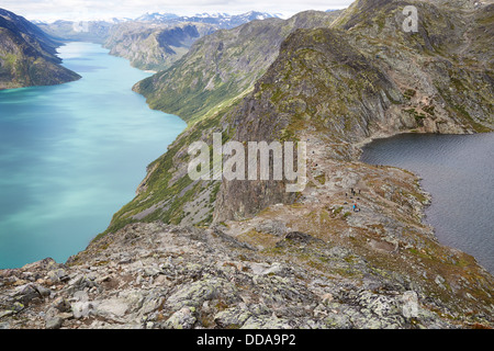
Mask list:
[[[462,13],[415,4],[417,33],[402,30],[402,2],[358,1],[333,29],[290,35],[235,114],[232,138],[318,138],[338,145],[332,158],[352,160],[351,145],[378,134],[492,129],[493,70],[468,49],[483,39],[471,35],[475,19],[492,8]],[[276,182],[223,181],[217,199],[215,218],[224,220],[293,195]]]

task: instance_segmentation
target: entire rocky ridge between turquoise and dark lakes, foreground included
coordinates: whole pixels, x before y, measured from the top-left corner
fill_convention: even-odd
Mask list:
[[[359,161],[380,136],[492,132],[493,9],[358,0],[195,41],[134,88],[189,127],[86,250],[0,271],[0,326],[493,328],[494,278],[424,224],[419,178]],[[191,180],[213,133],[306,141],[305,189]]]

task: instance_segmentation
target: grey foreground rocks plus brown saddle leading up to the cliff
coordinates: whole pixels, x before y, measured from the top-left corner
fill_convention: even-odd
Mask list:
[[[64,264],[0,271],[0,327],[492,328],[494,278],[422,223],[419,180],[314,145],[293,204],[210,227],[130,224]]]

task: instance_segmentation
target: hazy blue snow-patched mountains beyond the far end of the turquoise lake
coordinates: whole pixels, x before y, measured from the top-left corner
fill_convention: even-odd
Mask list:
[[[276,18],[278,14],[250,11],[243,14],[201,13],[180,16],[173,13],[146,13],[111,21],[56,21],[37,25],[49,35],[65,41],[102,44],[115,56],[127,58],[134,67],[164,70],[181,58],[200,37],[217,30]]]

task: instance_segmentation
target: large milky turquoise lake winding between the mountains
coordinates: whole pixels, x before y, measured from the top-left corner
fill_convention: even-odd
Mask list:
[[[150,73],[96,44],[58,52],[82,79],[0,91],[0,269],[85,249],[186,128],[132,91]]]

